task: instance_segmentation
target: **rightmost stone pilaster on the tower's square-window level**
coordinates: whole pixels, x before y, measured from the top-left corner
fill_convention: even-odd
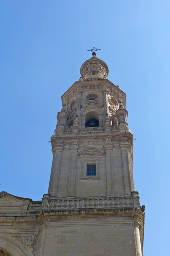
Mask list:
[[[123,166],[123,176],[124,176],[124,184],[125,184],[125,195],[130,195],[132,189],[130,184],[130,168],[129,168],[129,159],[127,153],[127,147],[129,144],[120,144],[120,148],[122,150],[122,166]]]

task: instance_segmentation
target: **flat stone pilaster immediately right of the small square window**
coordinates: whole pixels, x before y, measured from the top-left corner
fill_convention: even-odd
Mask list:
[[[112,145],[104,145],[106,151],[107,195],[113,195]]]

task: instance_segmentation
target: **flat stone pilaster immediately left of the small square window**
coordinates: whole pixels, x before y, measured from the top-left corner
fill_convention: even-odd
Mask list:
[[[77,149],[78,145],[70,146],[71,159],[70,159],[70,171],[68,179],[68,197],[75,196],[75,181],[76,181],[76,167],[77,167]]]

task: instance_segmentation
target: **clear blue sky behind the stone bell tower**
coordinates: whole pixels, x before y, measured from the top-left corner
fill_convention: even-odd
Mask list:
[[[61,95],[91,47],[126,93],[134,182],[146,205],[144,256],[170,237],[170,1],[0,1],[0,190],[41,200]]]

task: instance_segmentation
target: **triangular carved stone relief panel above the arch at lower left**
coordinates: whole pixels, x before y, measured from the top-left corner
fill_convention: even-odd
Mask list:
[[[36,235],[14,235],[14,236],[8,236],[8,237],[17,241],[18,243],[26,247],[29,252],[33,253],[34,244],[37,239]]]

